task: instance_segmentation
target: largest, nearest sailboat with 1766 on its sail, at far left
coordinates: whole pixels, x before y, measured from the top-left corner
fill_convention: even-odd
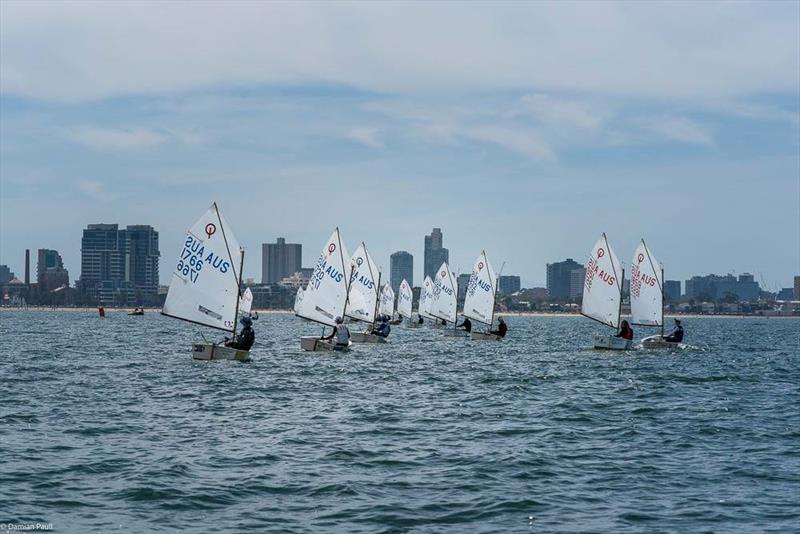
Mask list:
[[[236,335],[244,250],[214,202],[186,234],[163,315]],[[246,350],[194,343],[196,360],[250,359]]]

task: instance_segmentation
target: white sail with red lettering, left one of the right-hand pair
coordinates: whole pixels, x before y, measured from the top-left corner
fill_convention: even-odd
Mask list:
[[[619,327],[622,276],[622,265],[603,234],[594,244],[586,264],[581,313],[608,326]]]

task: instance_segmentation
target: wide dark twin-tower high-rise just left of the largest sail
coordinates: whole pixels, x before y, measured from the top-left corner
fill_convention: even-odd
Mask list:
[[[82,292],[103,304],[152,303],[158,296],[158,232],[148,225],[90,224],[81,239]]]

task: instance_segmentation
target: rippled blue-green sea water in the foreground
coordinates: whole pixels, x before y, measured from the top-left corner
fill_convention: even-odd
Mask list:
[[[687,319],[697,349],[627,354],[587,350],[588,320],[508,322],[325,354],[264,314],[240,364],[192,361],[213,331],[155,313],[0,313],[0,522],[797,531],[800,322]]]

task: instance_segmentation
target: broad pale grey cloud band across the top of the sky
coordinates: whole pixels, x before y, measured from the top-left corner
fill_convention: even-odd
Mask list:
[[[795,2],[3,2],[2,10],[2,92],[48,100],[275,84],[717,98],[792,93],[800,64]]]

